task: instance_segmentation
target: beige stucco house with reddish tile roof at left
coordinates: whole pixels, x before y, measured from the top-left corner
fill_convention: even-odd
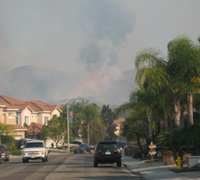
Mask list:
[[[62,110],[57,105],[49,105],[41,101],[21,101],[0,95],[0,122],[13,125],[15,139],[25,137],[27,128],[24,125],[33,123],[45,124],[53,115],[60,116]]]

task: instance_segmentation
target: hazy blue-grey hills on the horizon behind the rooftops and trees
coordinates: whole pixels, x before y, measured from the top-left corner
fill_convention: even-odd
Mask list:
[[[129,100],[131,91],[136,89],[135,70],[124,71],[120,79],[96,97],[68,97],[79,84],[81,75],[68,74],[54,69],[22,66],[2,75],[0,94],[20,100],[40,100],[61,105],[69,100],[86,99],[98,105],[119,106]],[[76,77],[76,78],[75,78]],[[76,79],[76,81],[74,80]]]

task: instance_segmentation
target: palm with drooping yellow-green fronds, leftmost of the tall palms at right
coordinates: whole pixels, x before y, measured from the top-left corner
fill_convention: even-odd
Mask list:
[[[136,81],[141,90],[144,91],[144,97],[146,97],[143,99],[143,105],[146,106],[149,121],[149,137],[151,140],[153,140],[152,110],[156,104],[158,105],[163,101],[162,98],[158,98],[159,94],[161,94],[160,90],[163,90],[164,87],[166,89],[170,80],[166,71],[167,62],[160,56],[160,51],[149,48],[140,51],[135,59],[135,66],[138,70]]]

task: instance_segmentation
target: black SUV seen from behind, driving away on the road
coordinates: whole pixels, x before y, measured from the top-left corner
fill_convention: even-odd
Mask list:
[[[94,154],[94,167],[97,167],[98,163],[117,163],[117,166],[121,167],[121,151],[117,148],[117,142],[101,141],[98,143]]]

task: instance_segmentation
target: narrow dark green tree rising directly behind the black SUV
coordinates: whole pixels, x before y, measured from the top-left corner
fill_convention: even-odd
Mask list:
[[[116,125],[114,124],[115,114],[109,105],[103,105],[101,109],[101,118],[105,125],[106,137],[105,139],[115,140]]]

